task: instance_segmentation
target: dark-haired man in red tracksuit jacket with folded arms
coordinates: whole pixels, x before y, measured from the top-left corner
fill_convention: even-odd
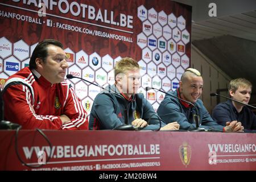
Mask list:
[[[30,67],[6,80],[2,91],[5,119],[22,125],[22,129],[88,130],[87,113],[64,81],[67,68],[60,42],[40,42]]]

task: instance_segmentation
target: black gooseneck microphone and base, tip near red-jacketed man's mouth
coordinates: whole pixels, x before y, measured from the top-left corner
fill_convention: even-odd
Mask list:
[[[89,82],[90,84],[93,84],[93,85],[98,86],[98,87],[100,87],[100,88],[102,88],[102,89],[104,89],[104,90],[107,90],[109,93],[114,93],[114,94],[118,94],[119,96],[121,96],[121,94],[119,94],[119,93],[117,93],[117,92],[114,92],[114,90],[106,89],[106,88],[104,88],[104,87],[102,87],[102,86],[100,86],[100,85],[98,85],[98,84],[94,84],[93,82],[90,82],[90,81],[88,81],[88,80],[85,80],[84,78],[76,77],[76,76],[73,76],[73,75],[71,75],[71,74],[68,74],[66,77],[67,77],[68,79],[79,78],[79,79],[81,79],[81,80],[84,80],[84,81],[86,81],[86,82]],[[136,131],[138,131],[138,130],[142,130],[142,129],[143,129],[142,127],[137,127],[137,126],[133,126],[133,125],[125,125],[125,124],[124,124],[124,125],[120,125],[120,126],[115,127],[113,130],[136,130]]]

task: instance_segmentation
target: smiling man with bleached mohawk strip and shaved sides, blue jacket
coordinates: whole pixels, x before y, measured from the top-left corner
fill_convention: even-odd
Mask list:
[[[219,130],[224,132],[242,131],[243,126],[241,122],[233,121],[223,127],[214,121],[207,109],[204,107],[203,102],[199,99],[203,92],[203,78],[201,73],[193,68],[188,68],[181,76],[179,88],[175,92],[168,92],[172,96],[181,98],[187,102],[181,101],[168,94],[164,97],[158,107],[158,115],[164,122],[168,123],[171,119],[180,124],[181,130],[193,130],[196,128],[195,116],[198,114],[200,127],[206,130]]]

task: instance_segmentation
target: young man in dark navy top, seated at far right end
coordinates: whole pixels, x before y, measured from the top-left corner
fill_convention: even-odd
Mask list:
[[[245,78],[237,78],[229,82],[229,95],[234,100],[248,104],[251,98],[251,82]],[[220,125],[226,122],[240,121],[245,132],[256,133],[256,117],[246,105],[228,100],[214,107],[212,117]]]

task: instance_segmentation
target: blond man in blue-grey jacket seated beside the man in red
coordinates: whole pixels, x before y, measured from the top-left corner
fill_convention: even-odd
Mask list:
[[[158,130],[160,119],[143,94],[137,93],[141,84],[139,64],[124,57],[114,68],[115,84],[106,87],[94,99],[90,112],[90,130],[110,130],[133,125],[143,130]],[[178,130],[179,124],[162,123],[160,130]]]

